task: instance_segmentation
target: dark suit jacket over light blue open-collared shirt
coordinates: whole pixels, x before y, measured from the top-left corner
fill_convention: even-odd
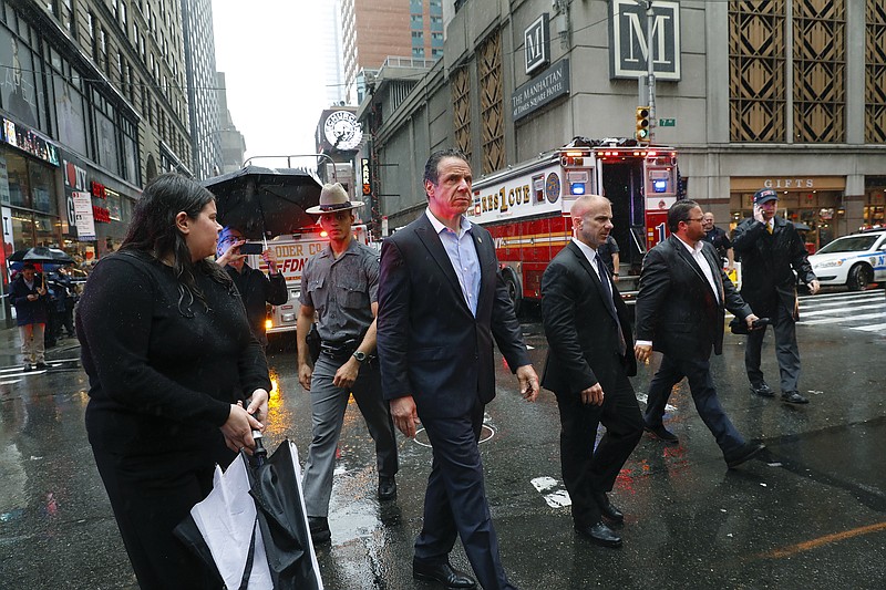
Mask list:
[[[512,372],[529,364],[492,236],[471,229],[481,269],[476,318],[422,215],[381,248],[378,350],[387,400],[412,395],[420,417],[454,417],[495,397],[493,339]]]

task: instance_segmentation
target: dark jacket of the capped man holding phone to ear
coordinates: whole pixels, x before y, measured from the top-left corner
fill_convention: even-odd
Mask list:
[[[756,219],[745,219],[735,228],[732,247],[741,256],[741,294],[758,315],[774,315],[777,300],[796,315],[796,271],[810,283],[815,273],[808,252],[794,224],[773,218],[772,234]]]

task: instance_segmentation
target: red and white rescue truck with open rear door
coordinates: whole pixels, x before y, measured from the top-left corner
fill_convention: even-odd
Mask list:
[[[682,198],[677,151],[633,139],[576,137],[558,149],[480,178],[468,219],[490,230],[514,304],[539,300],[542,273],[571,238],[569,207],[581,195],[612,201],[612,237],[628,267],[630,302],[646,251],[667,237],[667,211]]]

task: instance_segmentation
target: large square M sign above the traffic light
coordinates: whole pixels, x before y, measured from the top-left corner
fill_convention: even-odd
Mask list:
[[[656,80],[680,80],[679,2],[652,2],[651,39],[647,39],[646,20],[646,2],[609,0],[609,77],[646,75],[651,53]]]

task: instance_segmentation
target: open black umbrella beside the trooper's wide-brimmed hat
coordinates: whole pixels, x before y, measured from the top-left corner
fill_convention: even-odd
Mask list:
[[[246,166],[203,186],[216,197],[218,221],[250,239],[298,232],[316,221],[305,210],[320,203],[320,180],[303,168]]]

